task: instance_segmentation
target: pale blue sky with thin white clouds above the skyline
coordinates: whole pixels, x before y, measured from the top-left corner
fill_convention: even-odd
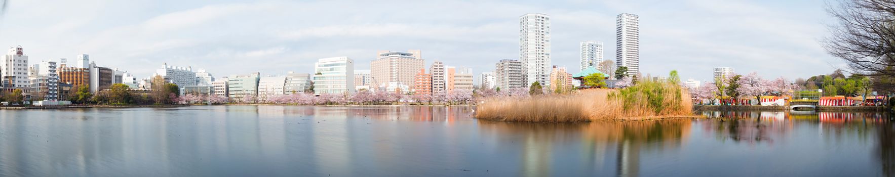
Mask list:
[[[615,60],[615,18],[640,16],[641,72],[711,80],[733,67],[789,80],[845,68],[820,40],[836,21],[818,0],[222,1],[8,0],[0,46],[30,63],[89,54],[98,66],[149,77],[163,63],[215,77],[313,71],[348,56],[369,69],[379,50],[422,50],[476,73],[519,58],[518,17],[551,17],[552,64],[579,71],[579,45],[601,41]],[[476,82],[478,83],[478,81]]]

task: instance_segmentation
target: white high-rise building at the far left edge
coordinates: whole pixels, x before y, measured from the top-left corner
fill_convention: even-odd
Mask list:
[[[4,89],[30,89],[28,55],[25,55],[21,46],[10,47],[3,61],[0,61],[0,66]]]

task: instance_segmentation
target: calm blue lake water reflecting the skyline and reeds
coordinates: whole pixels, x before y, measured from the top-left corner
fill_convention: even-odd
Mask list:
[[[0,110],[0,176],[893,176],[876,113],[523,123],[473,107]]]

